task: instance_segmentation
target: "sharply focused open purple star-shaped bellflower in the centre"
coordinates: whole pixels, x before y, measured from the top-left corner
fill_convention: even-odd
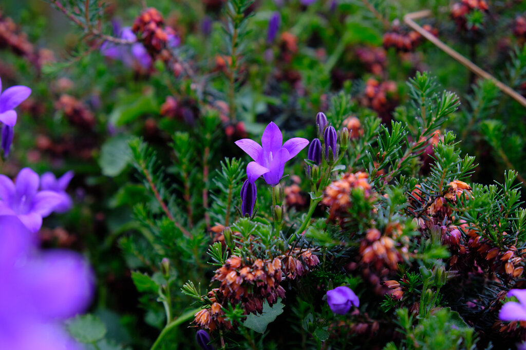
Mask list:
[[[261,145],[250,139],[236,141],[254,162],[247,165],[248,181],[254,183],[263,175],[265,182],[271,186],[279,183],[283,176],[285,163],[294,158],[309,141],[302,137],[293,137],[283,143],[283,135],[278,125],[270,122],[261,136]]]

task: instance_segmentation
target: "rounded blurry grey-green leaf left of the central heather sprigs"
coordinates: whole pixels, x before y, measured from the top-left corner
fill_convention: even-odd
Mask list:
[[[100,149],[99,165],[103,175],[119,175],[131,159],[128,142],[130,137],[118,135],[106,141]]]

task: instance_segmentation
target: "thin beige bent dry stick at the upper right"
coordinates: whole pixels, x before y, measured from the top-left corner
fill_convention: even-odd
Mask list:
[[[426,29],[420,27],[416,22],[414,22],[414,19],[420,19],[420,18],[428,17],[429,15],[431,15],[431,11],[430,10],[421,10],[421,11],[418,11],[418,12],[409,13],[409,14],[403,16],[403,22],[405,22],[408,26],[410,26],[414,30],[418,31],[418,33],[420,33],[424,38],[426,38],[429,41],[431,41],[431,43],[433,43],[434,45],[438,46],[438,48],[440,48],[442,51],[446,52],[446,54],[448,54],[449,56],[453,57],[454,59],[456,59],[457,61],[462,63],[462,65],[466,66],[469,70],[471,70],[473,73],[475,73],[479,77],[484,78],[484,79],[489,79],[489,80],[493,81],[495,83],[495,85],[500,90],[502,90],[502,92],[508,94],[513,99],[515,99],[517,102],[519,102],[524,107],[526,107],[526,99],[524,97],[522,97],[522,95],[520,93],[518,93],[517,91],[513,90],[512,88],[510,88],[506,84],[502,83],[497,78],[493,77],[490,73],[488,73],[487,71],[481,69],[480,67],[478,67],[475,63],[471,62],[466,57],[460,55],[457,51],[453,50],[451,47],[449,47],[446,44],[442,43],[442,41],[440,41],[440,39],[438,39],[436,36],[434,36],[431,33],[429,33],[429,31],[427,31]]]

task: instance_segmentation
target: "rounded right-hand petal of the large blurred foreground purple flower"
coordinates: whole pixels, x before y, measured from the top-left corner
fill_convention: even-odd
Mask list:
[[[93,294],[93,273],[86,261],[69,251],[46,252],[24,267],[32,309],[48,320],[72,317],[86,309]]]

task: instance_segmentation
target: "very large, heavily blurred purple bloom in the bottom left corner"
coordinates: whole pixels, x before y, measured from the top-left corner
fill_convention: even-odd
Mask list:
[[[35,238],[15,216],[0,216],[0,348],[82,349],[57,321],[86,309],[93,273],[76,253],[35,252]]]

